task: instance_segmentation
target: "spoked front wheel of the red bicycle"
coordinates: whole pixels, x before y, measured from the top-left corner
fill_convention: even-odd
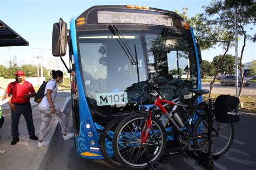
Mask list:
[[[146,143],[141,143],[140,134],[146,121],[145,114],[126,117],[117,126],[112,140],[114,155],[118,161],[131,168],[144,168],[159,160],[166,148],[166,132],[163,124],[152,117]]]

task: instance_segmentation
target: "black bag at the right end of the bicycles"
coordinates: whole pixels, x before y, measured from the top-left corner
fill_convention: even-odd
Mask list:
[[[216,121],[221,123],[239,122],[239,103],[238,97],[230,95],[218,96],[214,107]]]

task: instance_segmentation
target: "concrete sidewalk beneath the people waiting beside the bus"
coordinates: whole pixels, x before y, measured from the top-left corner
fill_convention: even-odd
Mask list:
[[[70,96],[56,97],[55,105],[65,110],[66,105],[69,103]],[[36,136],[39,136],[39,128],[41,126],[41,114],[39,113],[37,103],[33,102],[33,98],[30,100],[33,112],[33,123],[35,125]],[[0,129],[0,146],[5,149],[6,152],[0,154],[0,169],[39,169],[44,161],[48,148],[46,145],[43,147],[37,147],[38,140],[29,139],[28,130],[26,129],[26,122],[23,116],[19,121],[19,142],[16,145],[11,145],[11,111],[8,104],[2,106],[3,116],[5,122]],[[45,140],[50,140],[57,128],[58,121],[54,118],[47,130],[47,136]]]

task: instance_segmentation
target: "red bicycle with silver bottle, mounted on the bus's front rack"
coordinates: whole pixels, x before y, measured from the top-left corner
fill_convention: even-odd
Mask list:
[[[170,84],[176,86],[177,89],[186,84],[177,84],[169,82],[147,82],[147,87],[156,90],[156,99],[153,107],[145,114],[138,113],[123,119],[114,131],[112,144],[114,155],[117,160],[131,168],[143,168],[153,161],[158,161],[164,154],[169,121],[172,125],[172,130],[178,132],[178,143],[183,146],[183,151],[186,150],[201,150],[208,151],[208,117],[206,114],[207,105],[205,103],[197,104],[198,97],[209,93],[208,90],[190,90],[196,94],[196,101],[192,105],[181,103],[179,97],[172,101],[160,98],[159,86]],[[175,93],[175,91],[174,91]],[[168,112],[165,108],[171,105],[172,109]],[[177,113],[177,108],[181,108],[181,112]],[[160,109],[162,115],[160,119],[155,117],[156,111]],[[192,112],[188,112],[191,109]],[[214,143],[216,139],[221,145],[212,150],[213,155],[223,155],[230,148],[233,141],[233,125],[226,123],[221,125],[212,118],[211,138]],[[169,127],[170,129],[170,127]],[[211,141],[211,143],[213,142]],[[191,146],[193,141],[193,147]],[[224,141],[224,143],[223,143]],[[184,152],[186,153],[186,152]]]

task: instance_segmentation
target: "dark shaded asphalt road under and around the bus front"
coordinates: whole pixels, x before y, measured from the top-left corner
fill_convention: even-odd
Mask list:
[[[66,114],[71,112],[69,103]],[[214,169],[255,169],[256,168],[256,115],[240,116],[240,122],[235,123],[235,140],[230,150],[214,162]],[[72,119],[70,118],[70,128]],[[86,160],[80,158],[73,143],[73,139],[64,141],[58,127],[56,138],[50,151],[49,161],[44,169],[114,169],[104,160]],[[125,170],[126,168],[122,168]],[[161,169],[204,169],[192,159],[185,159],[183,155],[167,157],[161,164]]]

